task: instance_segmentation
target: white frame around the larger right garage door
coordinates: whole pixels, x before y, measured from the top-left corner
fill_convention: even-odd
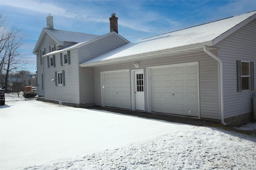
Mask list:
[[[172,67],[172,66],[186,66],[196,64],[197,65],[197,78],[198,78],[198,118],[200,119],[200,88],[199,88],[199,62],[191,62],[191,63],[179,63],[179,64],[168,64],[168,65],[160,65],[160,66],[149,66],[146,67],[146,74],[147,77],[145,80],[147,81],[147,111],[152,112],[152,106],[151,106],[151,83],[150,83],[150,69],[151,68],[163,68],[163,67]],[[145,77],[145,76],[144,76]]]

